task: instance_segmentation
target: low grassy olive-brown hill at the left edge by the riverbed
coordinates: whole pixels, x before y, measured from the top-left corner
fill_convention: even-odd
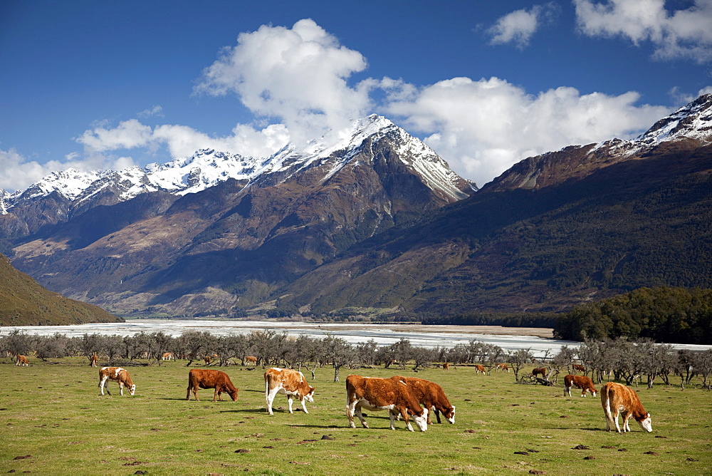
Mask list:
[[[44,289],[0,254],[0,326],[122,322],[103,309]]]

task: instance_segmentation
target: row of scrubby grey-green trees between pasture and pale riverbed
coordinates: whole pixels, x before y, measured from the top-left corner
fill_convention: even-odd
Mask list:
[[[599,383],[604,378],[625,381],[631,384],[645,377],[649,386],[656,379],[670,385],[672,379],[680,378],[681,386],[689,385],[692,378],[701,376],[703,386],[708,385],[712,373],[712,349],[704,352],[676,351],[668,344],[656,344],[650,339],[627,338],[588,339],[578,348],[564,346],[555,355],[549,351],[541,358],[534,358],[530,349],[505,351],[500,346],[471,340],[454,347],[424,348],[413,346],[402,338],[389,346],[378,346],[370,339],[356,344],[343,338],[325,336],[288,336],[276,331],[253,331],[248,334],[218,336],[206,331],[187,331],[180,336],[163,332],[137,333],[133,336],[104,336],[98,333],[68,337],[61,333],[52,336],[36,336],[12,331],[0,336],[0,351],[11,355],[34,353],[37,358],[63,358],[93,354],[110,365],[159,366],[165,353],[172,353],[187,361],[204,363],[211,356],[211,366],[245,365],[246,356],[257,358],[258,366],[282,366],[310,371],[312,379],[320,368],[331,367],[334,381],[339,381],[342,368],[368,368],[385,366],[412,371],[448,362],[457,365],[481,364],[487,372],[495,370],[499,363],[509,363],[515,381],[526,383],[530,366],[547,370],[546,383],[555,383],[562,372],[571,373],[574,363],[582,363],[592,378]],[[148,362],[147,362],[148,361]],[[544,383],[543,382],[543,383]]]

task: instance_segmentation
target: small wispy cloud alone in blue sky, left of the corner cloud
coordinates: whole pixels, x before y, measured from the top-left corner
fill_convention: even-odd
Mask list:
[[[550,2],[506,14],[487,29],[486,33],[491,36],[490,44],[514,43],[517,48],[523,49],[529,45],[530,38],[540,26],[552,21],[557,13],[557,5]]]

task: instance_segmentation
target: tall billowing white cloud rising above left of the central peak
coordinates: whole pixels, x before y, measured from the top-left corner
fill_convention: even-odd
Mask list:
[[[368,89],[347,84],[366,66],[361,53],[304,19],[291,29],[265,25],[241,33],[237,46],[224,48],[203,71],[195,92],[235,93],[256,115],[281,120],[298,143],[367,112]]]

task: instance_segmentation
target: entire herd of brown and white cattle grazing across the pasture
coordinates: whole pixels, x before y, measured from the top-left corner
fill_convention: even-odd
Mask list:
[[[95,356],[94,356],[95,357]],[[91,366],[96,365],[96,359],[90,358]],[[28,365],[26,356],[16,356],[17,366]],[[575,366],[576,367],[576,366]],[[581,366],[576,370],[585,370]],[[449,365],[443,366],[448,370]],[[499,364],[498,370],[508,371],[506,364]],[[476,373],[483,372],[483,366],[476,366]],[[545,368],[535,368],[532,375],[541,373]],[[308,385],[303,373],[287,368],[268,368],[264,373],[265,379],[265,405],[267,412],[273,415],[272,404],[278,393],[287,395],[289,413],[293,413],[293,398],[299,399],[304,413],[309,413],[305,402],[314,401],[313,386]],[[132,382],[129,373],[120,367],[103,367],[99,371],[99,390],[104,395],[104,390],[109,393],[108,381],[115,381],[119,385],[119,393],[123,395],[124,387],[131,395],[135,395],[136,385]],[[597,390],[591,378],[587,376],[567,375],[564,377],[564,395],[571,396],[571,388],[580,388],[581,396],[586,392],[596,396]],[[198,399],[199,388],[214,389],[213,401],[222,400],[222,393],[230,395],[237,401],[239,389],[230,381],[230,377],[221,371],[193,368],[188,373],[188,388],[186,400],[190,399],[193,392],[195,400]],[[652,431],[650,414],[645,411],[637,393],[631,388],[620,383],[608,382],[601,388],[601,405],[606,418],[606,430],[612,428],[618,433],[630,431],[628,420],[634,418],[640,427]],[[109,393],[110,394],[110,393]],[[441,423],[440,414],[455,423],[455,406],[451,405],[443,389],[436,383],[422,378],[393,376],[391,378],[364,377],[350,375],[346,378],[346,415],[351,428],[356,428],[354,416],[357,416],[364,428],[369,428],[361,410],[388,410],[391,429],[395,430],[395,418],[402,418],[408,430],[413,431],[410,420],[414,420],[419,430],[426,431],[432,423],[430,415],[434,413],[437,422]],[[622,427],[618,423],[619,415],[623,418]]]

